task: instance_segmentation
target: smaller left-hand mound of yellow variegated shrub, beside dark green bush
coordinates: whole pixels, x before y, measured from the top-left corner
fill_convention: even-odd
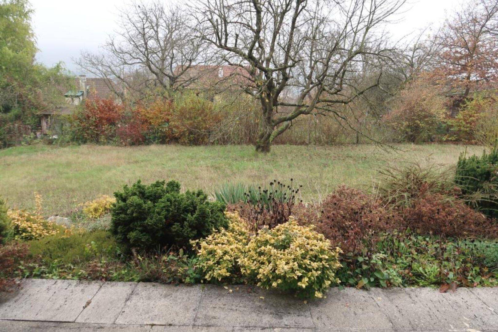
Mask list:
[[[249,228],[239,213],[225,215],[229,221],[227,229],[214,232],[202,241],[191,241],[193,245],[200,242],[198,267],[208,281],[234,279],[240,271],[237,261],[245,255],[249,242]]]

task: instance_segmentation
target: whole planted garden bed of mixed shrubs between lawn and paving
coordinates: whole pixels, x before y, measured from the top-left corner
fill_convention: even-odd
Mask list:
[[[216,200],[138,181],[75,207],[69,226],[43,217],[39,195],[34,212],[2,203],[1,277],[249,284],[303,298],[331,286],[498,286],[497,155],[463,155],[457,172],[384,169],[371,192],[340,186],[314,204],[292,179],[225,185]]]

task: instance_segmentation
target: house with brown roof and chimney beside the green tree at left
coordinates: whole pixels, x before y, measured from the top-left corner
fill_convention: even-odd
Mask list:
[[[53,109],[40,111],[41,133],[46,135],[50,129],[55,129],[60,115],[74,114],[79,105],[85,104],[87,99],[119,99],[113,82],[103,78],[87,78],[80,75],[75,79],[74,87],[64,94],[65,104]],[[61,88],[62,89],[62,88]]]

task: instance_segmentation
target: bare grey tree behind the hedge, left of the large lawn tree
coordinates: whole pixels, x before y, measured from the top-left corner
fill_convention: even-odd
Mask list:
[[[120,82],[131,93],[174,91],[196,79],[179,78],[202,61],[206,47],[194,36],[190,16],[179,6],[134,2],[120,17],[119,31],[103,45],[103,53],[82,53],[80,67]]]

